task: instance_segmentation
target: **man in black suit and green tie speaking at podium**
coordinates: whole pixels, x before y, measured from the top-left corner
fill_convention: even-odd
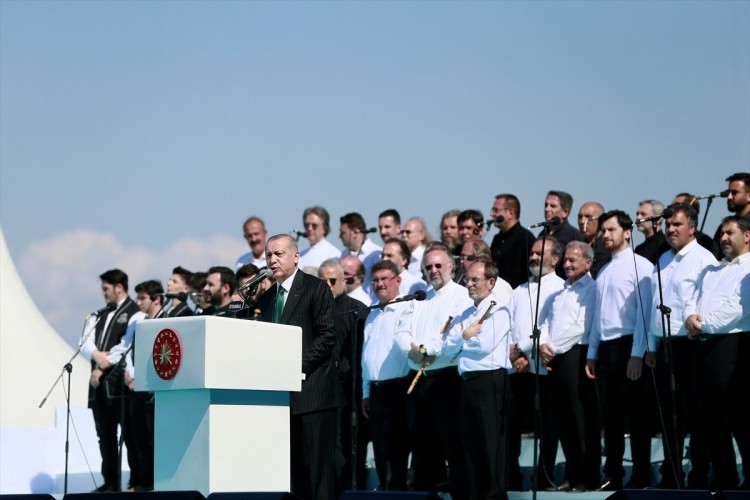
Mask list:
[[[302,328],[302,391],[290,396],[292,493],[335,498],[337,408],[343,404],[332,353],[334,301],[328,286],[298,269],[299,249],[289,235],[266,242],[275,286],[261,297],[261,321]]]

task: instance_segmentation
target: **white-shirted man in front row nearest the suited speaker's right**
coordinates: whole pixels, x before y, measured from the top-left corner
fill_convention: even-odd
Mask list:
[[[406,490],[409,458],[409,416],[406,391],[409,365],[394,342],[399,321],[411,315],[408,302],[389,304],[398,297],[401,278],[393,262],[377,262],[372,286],[381,307],[365,321],[362,346],[362,413],[370,420],[380,488]]]

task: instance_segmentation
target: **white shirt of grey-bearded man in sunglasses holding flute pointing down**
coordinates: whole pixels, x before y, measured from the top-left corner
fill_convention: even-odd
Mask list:
[[[474,302],[469,298],[465,287],[454,281],[446,283],[440,290],[430,288],[423,301],[407,302],[412,314],[404,316],[396,329],[396,344],[404,354],[411,349],[412,342],[424,346],[428,355],[438,355],[426,370],[439,370],[450,366],[451,357],[440,356],[443,349],[445,333],[443,328],[452,317],[454,320],[471,307]],[[420,365],[409,360],[409,366],[418,370]]]

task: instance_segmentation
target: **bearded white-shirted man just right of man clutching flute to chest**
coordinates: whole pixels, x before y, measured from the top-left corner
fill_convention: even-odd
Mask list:
[[[531,254],[526,266],[531,278],[513,290],[510,310],[513,317],[511,332],[510,361],[515,370],[510,374],[512,401],[510,405],[510,426],[508,437],[509,484],[511,490],[520,491],[523,476],[519,464],[521,454],[521,434],[534,432],[534,419],[541,420],[541,455],[536,472],[537,490],[554,486],[555,460],[557,458],[557,436],[553,432],[554,413],[549,407],[547,371],[539,361],[539,399],[541,415],[534,415],[534,395],[536,394],[536,365],[532,334],[535,324],[540,326],[552,304],[552,297],[562,290],[563,280],[555,274],[555,267],[562,257],[562,248],[557,240],[548,236],[531,245]],[[540,284],[541,283],[541,290]],[[497,285],[495,285],[497,288]],[[539,315],[536,315],[537,293],[539,294]],[[536,320],[536,323],[535,323]]]

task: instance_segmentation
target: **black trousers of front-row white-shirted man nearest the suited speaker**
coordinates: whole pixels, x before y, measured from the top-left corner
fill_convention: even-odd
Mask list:
[[[370,429],[380,488],[406,490],[409,467],[408,377],[370,382]]]

